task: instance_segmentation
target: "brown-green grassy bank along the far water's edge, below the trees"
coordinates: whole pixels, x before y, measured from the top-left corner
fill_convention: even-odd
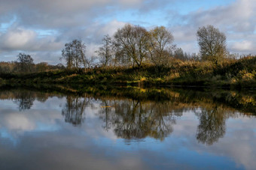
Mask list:
[[[170,67],[144,65],[57,70],[41,73],[0,74],[2,85],[196,85],[227,88],[256,88],[256,57],[223,61],[219,65],[200,61],[173,61]]]

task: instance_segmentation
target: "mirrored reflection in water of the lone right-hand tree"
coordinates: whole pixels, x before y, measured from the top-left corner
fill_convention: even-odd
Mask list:
[[[197,140],[206,145],[212,145],[222,138],[226,130],[226,116],[221,107],[213,109],[202,109],[197,116],[200,117],[200,124],[197,127]]]

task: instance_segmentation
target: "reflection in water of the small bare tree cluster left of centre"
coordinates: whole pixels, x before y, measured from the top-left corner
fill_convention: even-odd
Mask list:
[[[62,109],[65,121],[73,125],[79,125],[84,121],[84,109],[88,103],[87,97],[67,96],[66,105]]]

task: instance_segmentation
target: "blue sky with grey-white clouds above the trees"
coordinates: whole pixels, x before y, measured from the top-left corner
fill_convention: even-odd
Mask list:
[[[0,61],[20,52],[57,64],[65,43],[81,39],[96,55],[105,34],[126,23],[163,25],[184,52],[199,52],[197,29],[214,25],[230,53],[256,54],[256,0],[0,0]]]

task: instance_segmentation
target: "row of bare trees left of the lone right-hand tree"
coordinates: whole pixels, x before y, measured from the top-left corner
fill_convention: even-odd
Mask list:
[[[147,31],[139,25],[125,25],[113,37],[105,35],[102,45],[96,50],[96,57],[87,57],[87,46],[81,40],[72,40],[62,49],[62,59],[68,69],[85,70],[96,64],[99,67],[142,67],[144,64],[168,66],[173,58],[181,61],[198,60],[196,54],[187,54],[177,48],[174,37],[165,27]]]

